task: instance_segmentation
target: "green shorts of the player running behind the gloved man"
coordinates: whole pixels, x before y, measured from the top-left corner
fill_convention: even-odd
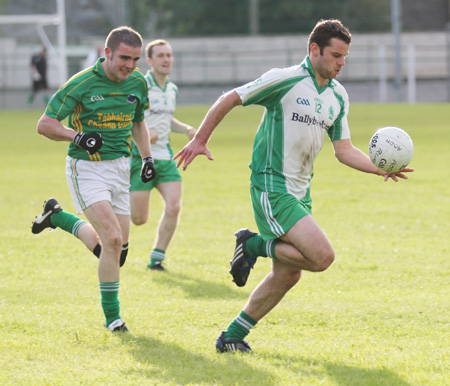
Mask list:
[[[154,162],[156,176],[150,182],[144,183],[141,180],[142,159],[140,157],[131,157],[130,191],[152,190],[156,185],[163,182],[181,181],[181,174],[174,160],[155,159]]]

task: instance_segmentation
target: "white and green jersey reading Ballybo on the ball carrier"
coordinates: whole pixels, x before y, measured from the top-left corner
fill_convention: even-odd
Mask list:
[[[272,69],[235,91],[244,106],[265,107],[253,145],[252,184],[302,199],[325,133],[332,141],[350,138],[344,87],[330,80],[319,88],[306,57],[300,65]]]

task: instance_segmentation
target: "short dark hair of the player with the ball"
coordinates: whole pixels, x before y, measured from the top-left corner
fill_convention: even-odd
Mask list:
[[[322,54],[323,49],[330,45],[330,40],[332,38],[342,40],[348,45],[350,45],[352,41],[350,31],[342,24],[340,20],[319,20],[309,35],[308,54],[312,43],[316,43],[320,47],[320,54]]]

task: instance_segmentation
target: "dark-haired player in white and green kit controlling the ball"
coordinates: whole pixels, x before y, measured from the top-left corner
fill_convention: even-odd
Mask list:
[[[265,107],[251,161],[251,199],[259,234],[236,232],[230,273],[238,286],[246,284],[260,256],[272,259],[272,271],[254,289],[239,315],[216,340],[216,350],[251,351],[244,338],[300,280],[302,270],[321,272],[334,260],[334,250],[311,215],[313,163],[330,137],[336,158],[366,173],[406,179],[378,170],[352,145],[347,122],[348,95],[334,80],[349,52],[351,34],[338,20],[321,20],[309,36],[301,64],[272,69],[254,82],[222,95],[211,107],[194,139],[175,158],[183,169],[199,154],[212,160],[206,147],[213,130],[236,106]]]

